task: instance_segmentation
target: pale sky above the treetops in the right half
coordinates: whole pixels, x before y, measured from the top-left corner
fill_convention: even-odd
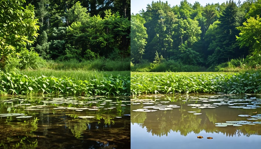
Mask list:
[[[131,0],[131,13],[139,13],[140,10],[144,9],[146,11],[147,4],[151,4],[153,0]],[[154,0],[154,2],[157,2],[159,0]],[[162,2],[166,2],[166,0],[161,0]],[[180,5],[180,1],[182,0],[168,0],[168,4],[172,6]],[[205,6],[206,3],[223,3],[228,0],[187,0],[192,5],[195,3],[195,1],[198,1],[202,6]],[[242,0],[241,0],[242,1]],[[235,0],[237,3],[238,0]]]

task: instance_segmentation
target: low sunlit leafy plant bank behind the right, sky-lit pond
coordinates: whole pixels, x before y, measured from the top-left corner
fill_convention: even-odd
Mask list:
[[[131,72],[131,95],[167,93],[261,93],[261,74]]]

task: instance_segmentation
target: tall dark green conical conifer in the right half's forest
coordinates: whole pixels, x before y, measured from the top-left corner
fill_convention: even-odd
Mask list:
[[[235,36],[238,31],[235,27],[240,26],[242,16],[238,12],[238,8],[233,1],[229,1],[222,15],[220,16],[220,23],[218,31],[216,31],[216,39],[210,43],[208,50],[213,54],[208,57],[208,65],[213,65],[221,62],[228,61],[239,56],[239,46],[235,41]],[[246,55],[246,54],[245,54]]]

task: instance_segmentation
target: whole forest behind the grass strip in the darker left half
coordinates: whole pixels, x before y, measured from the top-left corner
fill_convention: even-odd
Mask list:
[[[0,8],[3,71],[46,67],[46,61],[50,67],[130,62],[130,0],[3,0]]]

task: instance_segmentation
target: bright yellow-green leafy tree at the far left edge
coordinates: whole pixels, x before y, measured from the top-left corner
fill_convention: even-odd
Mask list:
[[[0,2],[0,68],[6,65],[6,57],[31,45],[38,36],[34,7],[23,7],[24,0]]]

